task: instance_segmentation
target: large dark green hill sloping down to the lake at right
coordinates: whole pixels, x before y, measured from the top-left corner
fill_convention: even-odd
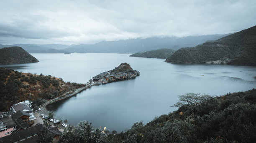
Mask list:
[[[255,55],[256,26],[220,38],[214,42],[206,42],[196,47],[179,49],[165,62],[256,66]]]

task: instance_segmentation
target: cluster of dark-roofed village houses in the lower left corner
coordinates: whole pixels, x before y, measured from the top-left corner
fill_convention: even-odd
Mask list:
[[[33,125],[32,101],[26,100],[12,106],[12,111],[0,112],[0,143],[35,143],[43,124]],[[49,128],[52,143],[59,142],[61,132],[57,127]]]

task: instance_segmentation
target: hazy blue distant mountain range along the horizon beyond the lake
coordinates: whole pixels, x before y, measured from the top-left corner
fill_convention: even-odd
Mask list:
[[[227,34],[229,35],[229,34]],[[102,41],[96,44],[13,44],[3,47],[22,47],[29,53],[137,53],[169,48],[177,50],[182,47],[193,47],[208,40],[216,40],[226,35],[202,35],[188,37],[149,37],[146,39],[127,39],[119,41]]]

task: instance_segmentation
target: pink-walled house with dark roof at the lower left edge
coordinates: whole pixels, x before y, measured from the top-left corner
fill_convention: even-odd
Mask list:
[[[12,118],[1,118],[0,120],[0,138],[8,136],[16,130],[16,123]]]

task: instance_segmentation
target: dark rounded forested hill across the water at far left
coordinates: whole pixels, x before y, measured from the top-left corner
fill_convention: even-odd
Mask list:
[[[0,49],[0,64],[23,64],[39,62],[21,47],[8,47]]]

